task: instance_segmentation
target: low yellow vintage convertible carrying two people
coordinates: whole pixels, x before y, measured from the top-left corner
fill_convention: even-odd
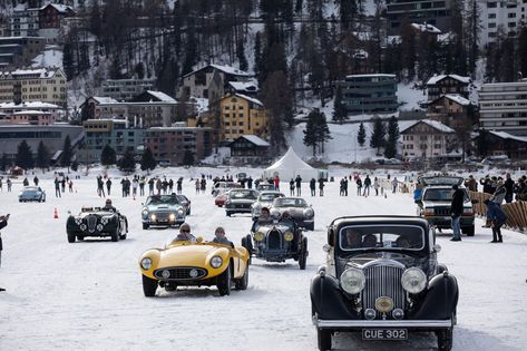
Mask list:
[[[216,285],[222,296],[231,287],[246,290],[248,251],[243,246],[173,241],[165,248],[150,248],[139,259],[145,296],[155,296],[157,286],[175,291],[179,285]]]

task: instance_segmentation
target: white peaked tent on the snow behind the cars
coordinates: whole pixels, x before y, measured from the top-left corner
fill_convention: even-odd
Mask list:
[[[276,175],[282,182],[294,179],[297,175],[300,175],[302,182],[310,182],[311,178],[319,179],[321,176],[328,178],[328,172],[308,165],[295,154],[292,147],[274,165],[263,172],[262,178],[274,178]]]

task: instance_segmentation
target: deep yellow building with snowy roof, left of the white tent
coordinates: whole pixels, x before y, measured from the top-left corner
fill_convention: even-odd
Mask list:
[[[242,94],[228,94],[219,100],[221,140],[234,140],[242,135],[265,138],[269,114],[264,105]]]

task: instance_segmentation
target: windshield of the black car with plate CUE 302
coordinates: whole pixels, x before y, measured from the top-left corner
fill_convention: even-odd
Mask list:
[[[410,250],[424,247],[424,231],[417,225],[353,225],[340,230],[343,251]]]

